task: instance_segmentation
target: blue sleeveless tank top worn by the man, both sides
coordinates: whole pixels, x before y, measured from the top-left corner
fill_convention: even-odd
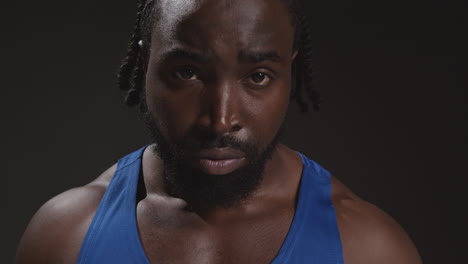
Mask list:
[[[82,244],[79,264],[149,264],[140,242],[137,187],[144,148],[118,161]],[[272,264],[343,264],[331,175],[300,154],[302,171],[296,212]],[[157,263],[154,263],[157,264]]]

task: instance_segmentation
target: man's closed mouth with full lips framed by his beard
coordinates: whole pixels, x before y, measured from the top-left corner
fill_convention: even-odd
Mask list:
[[[194,165],[210,175],[228,174],[245,162],[245,154],[232,148],[203,149],[194,157]]]

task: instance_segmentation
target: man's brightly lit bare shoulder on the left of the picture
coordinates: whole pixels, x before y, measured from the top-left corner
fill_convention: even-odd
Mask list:
[[[115,172],[113,165],[91,183],[46,202],[29,222],[16,263],[73,263],[99,202]]]

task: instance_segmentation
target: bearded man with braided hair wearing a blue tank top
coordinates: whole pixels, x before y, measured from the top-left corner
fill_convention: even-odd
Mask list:
[[[294,1],[147,0],[119,80],[154,144],[47,202],[18,263],[414,264],[399,225],[278,142],[310,89]]]

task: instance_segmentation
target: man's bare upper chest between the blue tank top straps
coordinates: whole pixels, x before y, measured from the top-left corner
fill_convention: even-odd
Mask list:
[[[294,210],[239,218],[209,225],[178,213],[151,214],[137,210],[140,240],[153,264],[271,263],[281,249]]]

